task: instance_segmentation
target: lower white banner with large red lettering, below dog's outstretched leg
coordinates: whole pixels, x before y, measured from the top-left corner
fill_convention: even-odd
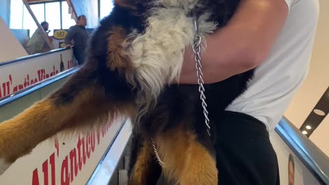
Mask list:
[[[0,175],[0,184],[86,184],[123,121],[108,122],[100,132],[45,140]]]

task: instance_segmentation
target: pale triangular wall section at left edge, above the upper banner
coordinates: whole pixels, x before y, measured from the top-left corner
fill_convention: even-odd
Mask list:
[[[0,62],[14,60],[23,56],[27,56],[25,49],[21,43],[10,32],[9,27],[0,17]]]

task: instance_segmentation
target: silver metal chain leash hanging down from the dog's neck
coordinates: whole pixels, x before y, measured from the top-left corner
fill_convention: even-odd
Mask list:
[[[202,65],[201,65],[201,36],[199,35],[199,25],[197,23],[197,16],[195,12],[193,12],[193,19],[194,19],[194,26],[195,26],[195,37],[193,42],[193,53],[195,54],[195,68],[197,69],[197,84],[199,84],[199,93],[200,99],[202,101],[202,108],[204,109],[204,119],[207,127],[207,132],[210,136],[210,121],[208,118],[208,110],[207,110],[207,103],[206,103],[206,95],[204,92],[204,79],[202,73]],[[152,147],[154,149],[154,153],[156,154],[156,159],[158,160],[161,167],[164,166],[164,162],[161,160],[158,150],[156,149],[156,144],[154,143],[153,138],[151,138]]]

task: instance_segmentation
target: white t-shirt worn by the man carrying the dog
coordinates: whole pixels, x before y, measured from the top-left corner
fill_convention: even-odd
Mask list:
[[[227,108],[254,116],[269,132],[306,78],[319,17],[319,0],[285,1],[289,14],[270,55],[257,67],[245,93]]]

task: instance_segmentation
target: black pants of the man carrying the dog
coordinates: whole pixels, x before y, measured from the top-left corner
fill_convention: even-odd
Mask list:
[[[276,152],[263,123],[238,112],[225,112],[215,121],[219,184],[280,184]]]

